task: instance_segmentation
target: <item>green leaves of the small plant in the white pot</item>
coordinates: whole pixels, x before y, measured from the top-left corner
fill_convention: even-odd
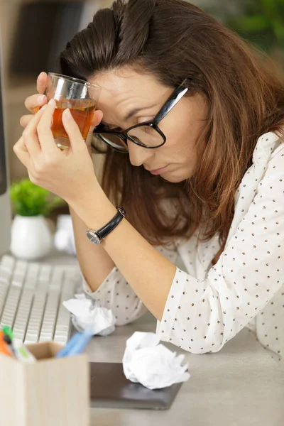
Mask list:
[[[28,179],[13,182],[10,195],[14,212],[21,216],[47,216],[62,203],[60,197],[53,197],[48,190],[34,185]]]

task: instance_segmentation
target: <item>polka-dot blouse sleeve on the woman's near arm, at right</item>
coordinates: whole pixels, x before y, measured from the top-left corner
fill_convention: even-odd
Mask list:
[[[204,280],[179,268],[157,332],[195,354],[215,352],[284,283],[284,149],[271,157],[251,204]]]

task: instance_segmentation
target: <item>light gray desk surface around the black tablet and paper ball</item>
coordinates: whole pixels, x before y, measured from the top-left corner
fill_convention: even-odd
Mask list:
[[[68,256],[60,257],[55,255],[50,263],[74,263]],[[121,362],[126,339],[135,331],[155,331],[153,317],[145,315],[133,324],[116,327],[108,337],[94,337],[87,350],[90,359]],[[95,408],[91,410],[91,425],[284,425],[284,372],[248,329],[217,354],[184,353],[192,376],[183,383],[170,410]]]

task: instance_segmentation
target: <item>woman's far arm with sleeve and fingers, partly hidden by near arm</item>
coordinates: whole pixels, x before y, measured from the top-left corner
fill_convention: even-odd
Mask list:
[[[26,108],[35,113],[39,107],[46,104],[47,99],[43,95],[47,84],[47,75],[45,72],[40,73],[37,80],[38,94],[34,94],[26,99]],[[102,113],[96,111],[94,121],[92,122],[89,134],[92,136],[92,130],[96,126]],[[33,115],[26,115],[21,117],[21,126],[26,128],[33,120]],[[90,140],[87,139],[87,147],[89,155]],[[54,143],[54,142],[53,142]],[[24,148],[26,151],[26,148]],[[98,170],[96,165],[96,170]],[[31,176],[31,173],[29,171]],[[69,183],[70,185],[70,183]],[[101,247],[93,246],[86,238],[85,231],[87,226],[82,222],[82,219],[70,208],[72,217],[72,224],[75,231],[75,244],[77,249],[77,258],[80,263],[82,275],[84,276],[83,286],[84,290],[91,295],[92,298],[97,299],[103,306],[111,308],[116,316],[116,324],[125,324],[131,322],[133,319],[143,315],[146,308],[138,297],[133,293],[133,290],[127,285],[125,278],[121,275],[117,268],[114,268],[114,262],[109,255]],[[88,285],[89,283],[89,285]],[[97,290],[99,288],[99,290]],[[97,290],[97,291],[96,291]]]

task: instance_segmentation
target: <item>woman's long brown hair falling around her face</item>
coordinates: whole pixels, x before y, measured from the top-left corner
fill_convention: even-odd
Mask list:
[[[258,60],[256,56],[260,57]],[[128,155],[107,149],[102,186],[123,205],[129,222],[152,244],[219,234],[226,241],[234,195],[261,134],[283,136],[284,87],[268,58],[196,6],[181,0],[114,1],[101,9],[60,55],[62,73],[88,80],[125,65],[151,72],[168,87],[188,79],[188,94],[205,95],[209,116],[197,146],[197,170],[182,183],[165,182]],[[269,68],[269,69],[268,69]],[[160,199],[175,200],[171,215]],[[201,226],[202,225],[202,226]]]

